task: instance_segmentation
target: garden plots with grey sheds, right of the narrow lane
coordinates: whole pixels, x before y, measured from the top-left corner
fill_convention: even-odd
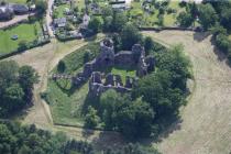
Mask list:
[[[58,40],[80,38],[78,28],[82,21],[84,0],[55,0],[53,8],[53,26]]]

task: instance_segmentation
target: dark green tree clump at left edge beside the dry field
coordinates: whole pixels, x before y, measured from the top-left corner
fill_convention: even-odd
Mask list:
[[[13,61],[0,62],[0,117],[32,103],[33,85],[37,79],[30,66],[20,67]]]

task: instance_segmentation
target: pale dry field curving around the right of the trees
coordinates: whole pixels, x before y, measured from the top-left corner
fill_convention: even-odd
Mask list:
[[[231,151],[231,69],[209,37],[193,32],[144,32],[161,43],[182,43],[193,63],[195,88],[183,122],[157,147],[164,154],[228,154]]]

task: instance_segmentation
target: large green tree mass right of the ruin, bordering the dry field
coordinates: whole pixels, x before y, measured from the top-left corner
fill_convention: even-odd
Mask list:
[[[190,65],[179,47],[170,51],[156,54],[157,72],[141,78],[132,91],[133,99],[142,97],[150,103],[156,113],[154,121],[157,124],[177,116],[179,107],[186,102],[184,92],[190,77]]]

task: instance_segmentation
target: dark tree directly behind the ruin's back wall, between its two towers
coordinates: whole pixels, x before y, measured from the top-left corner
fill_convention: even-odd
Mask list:
[[[128,23],[121,32],[121,41],[123,50],[131,50],[134,44],[142,42],[142,35],[133,24]]]

